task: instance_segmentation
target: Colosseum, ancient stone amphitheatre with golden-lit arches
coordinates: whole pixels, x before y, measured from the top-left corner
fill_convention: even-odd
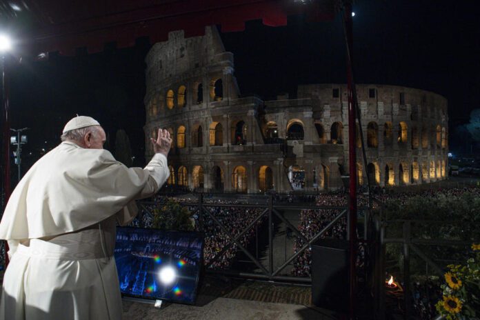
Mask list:
[[[346,84],[298,87],[297,98],[243,97],[233,54],[216,28],[185,39],[171,32],[146,57],[146,140],[174,138],[172,186],[219,192],[288,192],[343,186],[348,174]],[[439,94],[357,85],[368,165],[357,152],[359,185],[408,186],[446,179],[447,101]],[[358,150],[361,149],[357,123]],[[152,156],[146,141],[146,156]]]

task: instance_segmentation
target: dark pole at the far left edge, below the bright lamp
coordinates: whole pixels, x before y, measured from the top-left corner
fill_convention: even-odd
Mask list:
[[[3,98],[2,124],[3,124],[3,206],[10,198],[10,119],[8,118],[8,83],[6,77],[5,55],[1,57],[1,93]],[[2,208],[3,210],[3,208]],[[5,266],[8,265],[8,243],[5,242]]]

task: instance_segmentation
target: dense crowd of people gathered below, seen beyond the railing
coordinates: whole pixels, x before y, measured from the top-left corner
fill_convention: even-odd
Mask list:
[[[423,197],[434,197],[439,194],[443,194],[446,197],[448,196],[458,196],[464,192],[473,192],[478,194],[480,197],[480,188],[448,188],[448,189],[435,189],[435,190],[424,190],[422,192],[391,192],[388,190],[382,190],[380,188],[373,190],[374,198],[377,201],[373,202],[374,206],[377,206],[377,203],[385,202],[388,200],[397,200],[400,202],[406,201],[413,196],[421,195]],[[192,203],[192,206],[189,206],[190,212],[194,212],[193,218],[196,221],[196,228],[199,230],[199,212],[197,211],[197,203],[199,197],[193,194],[185,194],[179,197],[165,197],[159,196],[155,199],[152,199],[152,204],[143,204],[147,207],[147,211],[153,212],[154,206],[158,206],[158,203],[163,203],[168,199],[174,199],[181,203]],[[366,208],[369,203],[369,197],[366,193],[359,194],[358,206],[359,208]],[[274,203],[312,203],[317,206],[332,206],[332,207],[345,207],[348,203],[348,198],[345,190],[337,190],[336,192],[329,192],[324,194],[274,194],[273,195]],[[156,203],[156,204],[153,204]],[[209,210],[210,213],[217,218],[217,220],[223,225],[229,234],[225,234],[221,230],[220,226],[208,217],[206,212],[203,212],[203,231],[205,232],[205,246],[204,246],[204,261],[207,265],[214,257],[225,248],[232,237],[236,236],[248,226],[263,210],[263,208],[255,208],[254,202],[251,202],[248,198],[237,198],[233,199],[232,197],[221,198],[221,197],[210,197],[206,194],[203,197],[203,203],[205,204],[205,210]],[[238,204],[250,203],[252,207],[237,207]],[[232,206],[212,206],[215,204],[219,205],[232,205]],[[304,209],[300,212],[300,222],[299,222],[299,231],[303,236],[310,241],[316,234],[318,234],[323,228],[325,228],[338,214],[341,213],[341,209]],[[260,226],[261,223],[264,223],[265,217],[257,221],[257,226]],[[152,223],[151,214],[143,214],[141,222],[136,219],[132,226],[143,226],[149,227]],[[248,243],[254,237],[255,228],[250,228],[248,232],[243,234],[241,239],[239,239],[242,246],[248,246]],[[346,239],[347,238],[347,220],[346,215],[341,217],[334,225],[328,229],[320,238],[334,238],[334,239]],[[297,253],[304,245],[306,244],[303,241],[302,237],[295,237],[294,239],[294,252]],[[212,268],[230,268],[232,261],[239,250],[236,244],[233,244],[224,252],[219,259],[216,259],[212,263]],[[357,264],[362,265],[363,257],[365,250],[364,248],[359,248],[359,258]],[[311,265],[311,250],[307,248],[293,261],[292,274],[299,277],[308,277],[310,276],[310,265]]]

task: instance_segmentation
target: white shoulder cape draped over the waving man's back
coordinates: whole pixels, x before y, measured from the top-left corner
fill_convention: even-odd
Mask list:
[[[0,239],[34,239],[91,226],[135,199],[148,170],[127,168],[107,150],[63,142],[30,168],[14,189]]]

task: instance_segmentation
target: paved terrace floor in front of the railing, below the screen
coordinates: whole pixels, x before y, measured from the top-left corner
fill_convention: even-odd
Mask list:
[[[207,277],[195,306],[152,303],[125,299],[123,318],[153,319],[301,319],[330,320],[337,317],[326,310],[310,306],[310,287],[281,286],[274,283],[214,279]]]

